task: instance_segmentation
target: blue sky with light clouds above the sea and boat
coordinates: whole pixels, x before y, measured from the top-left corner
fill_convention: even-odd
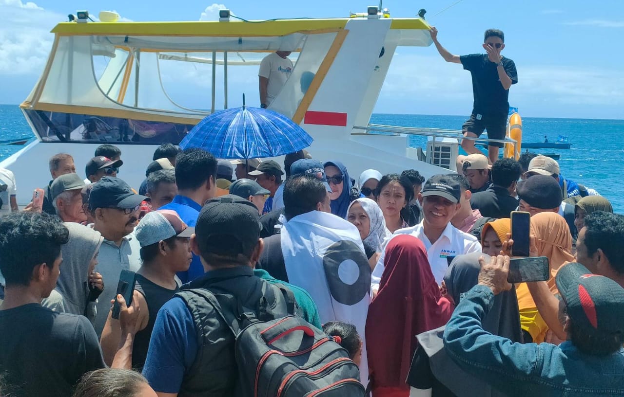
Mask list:
[[[386,0],[384,7],[394,17],[411,17],[418,9],[427,9],[427,22],[438,28],[439,40],[458,55],[482,52],[485,29],[504,30],[503,54],[515,61],[519,74],[510,103],[524,116],[624,118],[624,1],[462,0],[436,15],[454,2],[426,0],[416,5]],[[349,11],[365,11],[368,2],[223,0],[220,4],[246,19],[271,19],[348,16]],[[132,21],[214,19],[218,9],[212,1],[197,0],[0,0],[0,103],[15,104],[26,98],[51,47],[49,30],[66,20],[67,14],[85,8],[95,15],[102,9],[115,10]],[[254,79],[252,72],[232,82],[230,96],[236,91],[255,95]],[[195,93],[177,95],[192,99]],[[469,114],[471,106],[470,75],[461,65],[445,63],[433,46],[402,47],[394,56],[375,111],[463,115]]]

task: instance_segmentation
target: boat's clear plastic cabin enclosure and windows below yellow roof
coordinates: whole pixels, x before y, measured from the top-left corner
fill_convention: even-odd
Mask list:
[[[177,144],[202,118],[228,108],[233,96],[240,103],[246,91],[247,104],[258,106],[260,62],[283,50],[294,67],[270,109],[292,118],[337,34],[61,35],[41,92],[24,113],[42,141]],[[180,90],[189,80],[193,95]]]

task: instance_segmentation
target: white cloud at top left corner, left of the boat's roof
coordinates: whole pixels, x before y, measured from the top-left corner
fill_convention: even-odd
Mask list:
[[[0,0],[0,75],[37,75],[52,47],[52,27],[66,16],[33,2]]]

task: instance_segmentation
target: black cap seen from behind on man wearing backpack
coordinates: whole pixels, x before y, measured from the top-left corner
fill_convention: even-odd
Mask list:
[[[248,255],[260,238],[258,208],[245,198],[233,194],[211,198],[202,208],[195,223],[195,238],[202,252],[215,255]],[[223,244],[222,236],[232,241]]]

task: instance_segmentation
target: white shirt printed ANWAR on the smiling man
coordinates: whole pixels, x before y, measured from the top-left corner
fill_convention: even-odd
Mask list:
[[[425,249],[427,250],[427,259],[429,259],[431,273],[433,273],[438,285],[442,284],[444,273],[446,273],[446,269],[449,267],[449,263],[446,259],[447,256],[481,252],[481,245],[479,241],[477,241],[477,238],[457,229],[451,225],[451,222],[449,222],[444,231],[442,231],[442,235],[435,243],[431,243],[425,235],[422,222],[414,227],[403,228],[395,231],[393,237],[397,235],[411,235],[422,241]],[[377,262],[375,269],[373,270],[371,278],[371,289],[373,290],[379,289],[379,282],[381,281],[381,276],[384,274],[385,269],[385,256],[386,250],[384,249],[381,256],[379,256],[379,261]]]

